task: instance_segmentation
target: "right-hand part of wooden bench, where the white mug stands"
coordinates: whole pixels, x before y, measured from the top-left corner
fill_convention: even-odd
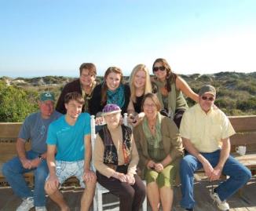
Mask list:
[[[256,115],[250,116],[231,116],[229,120],[236,131],[234,136],[230,137],[231,155],[247,166],[253,175],[256,174]],[[246,146],[246,155],[239,155],[236,147]],[[206,178],[202,176],[203,169],[196,171],[195,179]]]

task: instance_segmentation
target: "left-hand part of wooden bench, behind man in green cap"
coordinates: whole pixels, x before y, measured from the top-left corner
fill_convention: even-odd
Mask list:
[[[5,177],[2,175],[2,165],[9,161],[9,159],[15,157],[16,153],[16,138],[20,132],[20,126],[22,123],[15,122],[0,122],[0,186],[6,184]],[[26,144],[26,150],[30,149],[30,144]],[[25,180],[29,183],[30,186],[34,184],[34,174],[25,173]]]

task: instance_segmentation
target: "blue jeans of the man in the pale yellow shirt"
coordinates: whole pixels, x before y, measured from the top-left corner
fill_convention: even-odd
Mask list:
[[[214,151],[212,153],[201,153],[204,158],[207,158],[210,165],[218,165],[221,151]],[[181,160],[180,174],[181,174],[181,206],[184,208],[193,208],[195,206],[195,200],[193,196],[193,180],[196,170],[203,168],[199,160],[188,154]],[[243,166],[232,156],[229,156],[223,167],[222,173],[226,176],[230,176],[228,180],[222,182],[215,191],[218,193],[221,201],[224,201],[229,196],[233,195],[243,187],[251,178],[251,171],[247,167]]]

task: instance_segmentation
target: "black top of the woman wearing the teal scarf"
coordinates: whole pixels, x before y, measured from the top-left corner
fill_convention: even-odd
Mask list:
[[[89,102],[89,110],[90,115],[97,115],[97,112],[101,112],[103,110],[103,107],[107,104],[101,104],[101,87],[102,83],[99,85],[96,85],[93,89],[92,98]],[[127,107],[130,100],[130,86],[127,84],[124,84],[124,97],[125,102],[123,104],[123,107],[121,107],[122,115],[127,112]]]

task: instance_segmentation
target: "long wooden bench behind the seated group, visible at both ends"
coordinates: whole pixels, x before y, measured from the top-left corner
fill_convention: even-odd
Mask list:
[[[236,135],[231,137],[231,153],[243,165],[251,169],[253,174],[256,174],[256,115],[250,116],[233,116],[229,117],[232,126],[236,130]],[[10,158],[16,156],[16,137],[20,131],[22,123],[6,123],[0,122],[0,184],[5,182],[2,175],[2,165]],[[240,145],[247,146],[247,154],[240,156],[236,153],[236,147]],[[27,144],[29,149],[29,144]],[[202,171],[196,172],[196,180],[202,177]],[[33,173],[24,174],[26,180],[32,185]]]

